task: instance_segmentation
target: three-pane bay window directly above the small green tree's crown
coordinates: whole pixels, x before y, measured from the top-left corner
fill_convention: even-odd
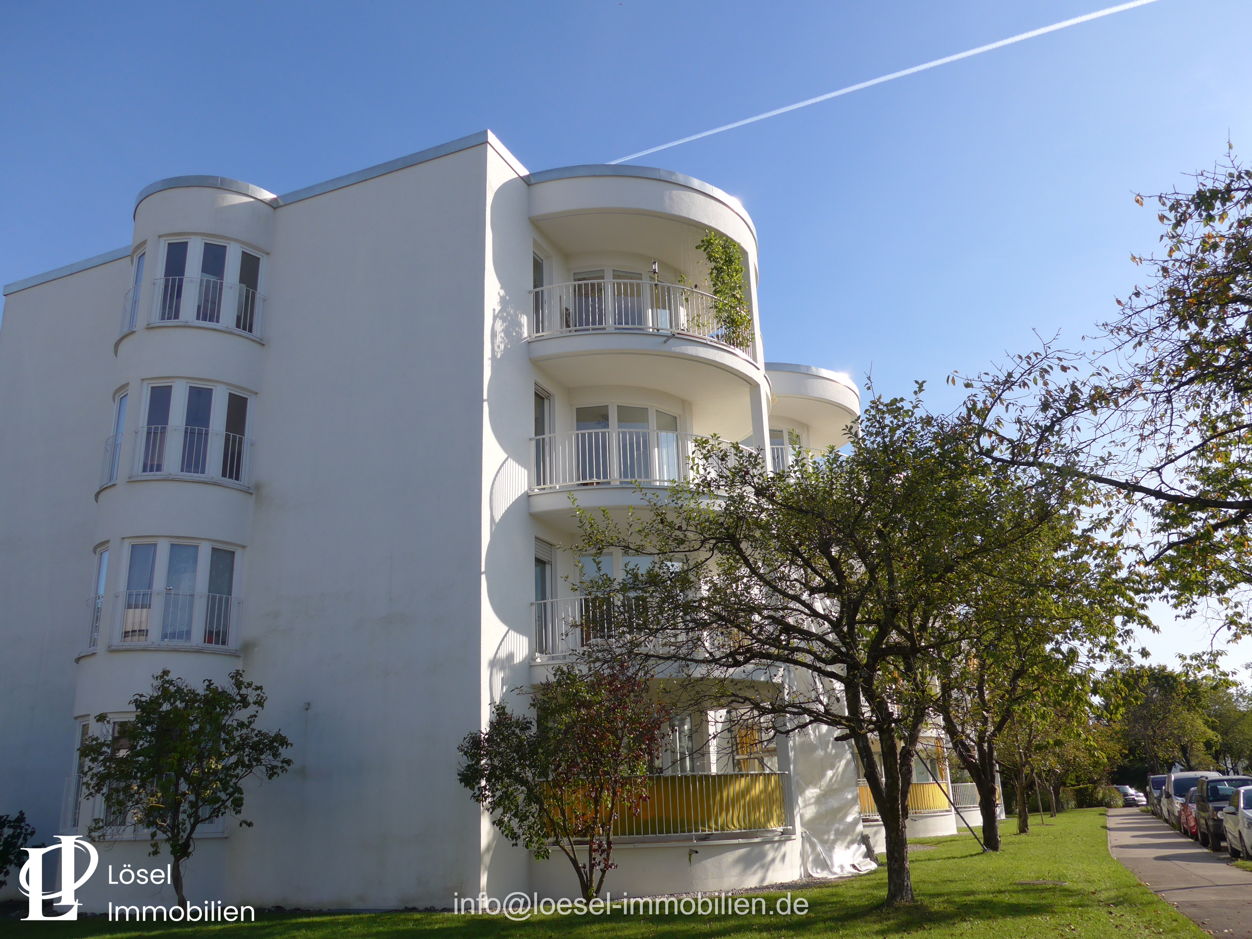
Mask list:
[[[188,541],[129,545],[119,640],[233,647],[234,548]],[[162,580],[156,580],[156,575]],[[154,583],[163,590],[154,590]]]

